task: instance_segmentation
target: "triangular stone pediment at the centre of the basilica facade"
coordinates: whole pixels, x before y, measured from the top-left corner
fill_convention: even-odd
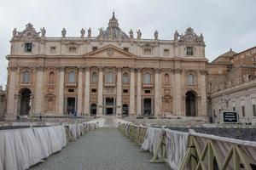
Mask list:
[[[134,54],[124,51],[121,48],[117,48],[113,45],[108,45],[103,48],[99,48],[95,51],[92,51],[88,54],[84,54],[85,56],[93,56],[93,57],[100,57],[100,58],[136,58]]]

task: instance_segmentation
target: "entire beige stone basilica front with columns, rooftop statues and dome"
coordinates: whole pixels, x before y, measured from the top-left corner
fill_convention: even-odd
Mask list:
[[[205,42],[192,28],[173,40],[125,34],[114,14],[97,37],[13,31],[6,119],[16,116],[207,116]]]

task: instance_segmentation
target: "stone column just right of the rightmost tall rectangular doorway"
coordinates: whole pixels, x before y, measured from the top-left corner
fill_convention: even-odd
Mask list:
[[[154,69],[154,116],[160,114],[159,69]]]

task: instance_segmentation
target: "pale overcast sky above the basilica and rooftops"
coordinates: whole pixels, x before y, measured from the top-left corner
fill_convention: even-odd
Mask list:
[[[256,45],[255,0],[0,0],[0,84],[7,82],[9,40],[12,31],[23,31],[28,22],[46,37],[79,36],[82,27],[107,28],[113,9],[119,27],[127,34],[141,29],[143,38],[173,39],[191,26],[205,37],[206,57],[210,61],[233,48],[241,52]]]

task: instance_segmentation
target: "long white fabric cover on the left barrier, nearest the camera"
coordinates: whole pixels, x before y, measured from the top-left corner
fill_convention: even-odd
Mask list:
[[[0,170],[23,170],[67,145],[65,127],[0,131]]]

